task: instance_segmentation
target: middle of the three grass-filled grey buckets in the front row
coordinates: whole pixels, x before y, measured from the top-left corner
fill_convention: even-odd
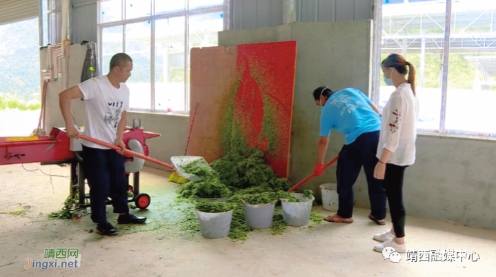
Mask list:
[[[270,227],[277,201],[279,201],[279,194],[275,192],[241,196],[246,225],[253,229],[266,229]]]

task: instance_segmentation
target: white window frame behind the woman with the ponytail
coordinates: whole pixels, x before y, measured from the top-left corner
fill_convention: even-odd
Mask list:
[[[373,72],[372,72],[372,91],[371,98],[373,103],[379,104],[379,88],[382,76],[381,72],[381,41],[382,41],[382,1],[374,0],[374,26],[373,26]],[[451,43],[451,12],[453,7],[453,0],[446,0],[446,17],[444,21],[444,42],[450,41]],[[484,137],[486,139],[496,139],[496,134],[487,132],[470,132],[463,130],[448,130],[446,129],[446,96],[448,94],[448,65],[450,54],[450,43],[444,43],[443,49],[443,70],[442,70],[442,88],[441,88],[441,114],[439,117],[439,129],[428,130],[417,128],[417,132],[421,134],[439,136],[465,136],[465,137]],[[477,69],[476,69],[477,70]],[[496,92],[495,92],[496,93]]]

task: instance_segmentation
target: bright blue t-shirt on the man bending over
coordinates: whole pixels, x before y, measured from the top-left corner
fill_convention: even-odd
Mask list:
[[[346,145],[361,134],[381,130],[381,118],[370,107],[370,99],[355,88],[345,88],[331,95],[320,116],[320,136],[337,130],[346,136]]]

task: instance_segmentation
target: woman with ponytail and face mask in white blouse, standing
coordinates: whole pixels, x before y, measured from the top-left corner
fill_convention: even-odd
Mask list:
[[[375,245],[374,250],[382,252],[386,247],[393,247],[395,252],[405,253],[403,178],[406,167],[415,163],[419,114],[419,102],[415,95],[415,68],[400,54],[390,54],[382,61],[381,68],[386,84],[394,85],[396,90],[391,94],[382,114],[377,148],[379,163],[375,167],[374,177],[384,180],[393,227],[374,236],[375,240],[384,241]]]

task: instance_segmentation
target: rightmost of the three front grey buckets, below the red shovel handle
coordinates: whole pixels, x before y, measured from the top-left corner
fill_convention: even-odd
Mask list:
[[[305,202],[288,202],[281,199],[282,217],[287,225],[303,226],[310,221],[310,212],[312,212],[312,203],[315,197],[308,198],[303,194],[292,194],[299,201]]]

